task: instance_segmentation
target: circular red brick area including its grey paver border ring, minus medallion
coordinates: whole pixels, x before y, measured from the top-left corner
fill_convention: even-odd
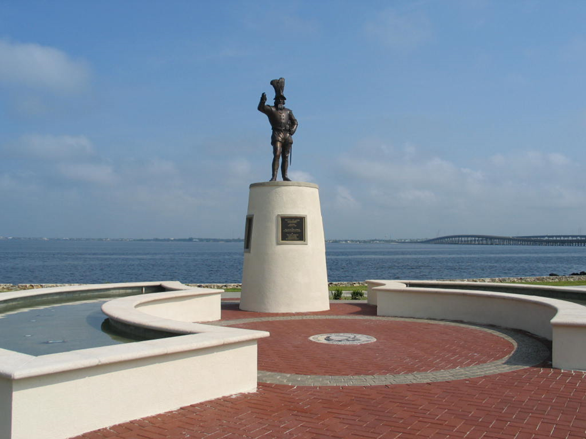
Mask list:
[[[258,342],[258,380],[276,384],[436,382],[513,371],[536,365],[549,354],[539,341],[517,331],[445,321],[293,315],[216,324],[271,332]],[[309,342],[310,335],[326,331],[366,332],[377,342]]]

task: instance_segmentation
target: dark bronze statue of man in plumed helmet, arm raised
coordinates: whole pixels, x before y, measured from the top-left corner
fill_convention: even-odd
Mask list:
[[[275,105],[266,105],[267,95],[263,93],[258,102],[258,111],[267,115],[268,121],[271,122],[272,136],[272,178],[270,181],[277,180],[277,173],[279,172],[279,159],[281,160],[281,175],[283,181],[291,181],[287,177],[287,169],[289,167],[289,155],[291,154],[291,146],[293,145],[292,135],[297,129],[297,119],[292,111],[285,108],[285,100],[287,98],[283,95],[285,89],[285,79],[274,79],[271,81],[272,87],[275,89]]]

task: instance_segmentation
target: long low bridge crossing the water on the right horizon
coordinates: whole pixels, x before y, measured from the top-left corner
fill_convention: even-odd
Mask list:
[[[449,235],[420,241],[426,244],[476,244],[476,245],[567,245],[586,246],[586,235]]]

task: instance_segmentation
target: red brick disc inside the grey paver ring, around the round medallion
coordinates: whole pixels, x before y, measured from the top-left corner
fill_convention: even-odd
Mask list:
[[[475,366],[512,354],[509,339],[471,327],[421,321],[321,318],[231,325],[270,332],[258,340],[258,369],[300,375],[399,375]],[[363,345],[308,341],[324,332],[362,332]]]

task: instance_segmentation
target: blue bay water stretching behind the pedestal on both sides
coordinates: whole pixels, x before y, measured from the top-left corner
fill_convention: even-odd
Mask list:
[[[240,283],[243,243],[0,240],[0,283]],[[569,275],[586,247],[328,243],[329,282]]]

